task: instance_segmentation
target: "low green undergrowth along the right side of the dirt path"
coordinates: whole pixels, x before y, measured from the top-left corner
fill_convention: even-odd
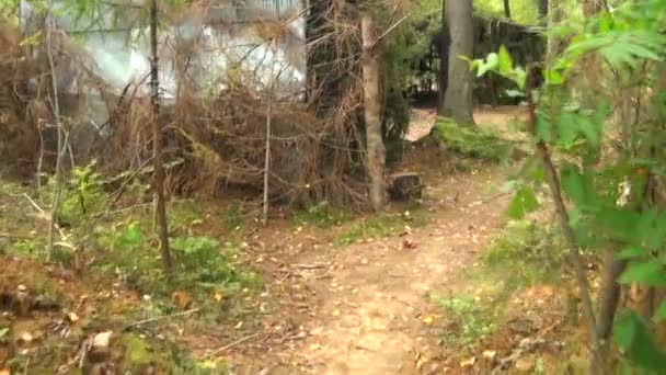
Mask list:
[[[507,306],[531,286],[560,282],[564,249],[549,226],[512,221],[483,253],[479,266],[463,271],[467,293],[428,295],[448,320],[440,327],[449,345],[470,345],[494,333]]]

